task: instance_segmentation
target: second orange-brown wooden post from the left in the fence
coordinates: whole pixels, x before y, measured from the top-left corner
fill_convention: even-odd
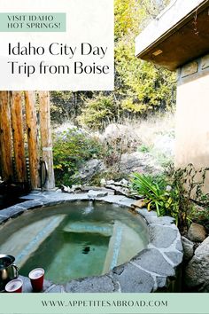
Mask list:
[[[21,91],[12,91],[11,117],[16,177],[18,182],[27,182]]]

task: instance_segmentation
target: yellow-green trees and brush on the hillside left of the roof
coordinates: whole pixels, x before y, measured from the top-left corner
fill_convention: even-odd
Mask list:
[[[115,90],[51,91],[51,118],[90,130],[174,109],[175,74],[135,58],[135,36],[167,0],[115,0]]]

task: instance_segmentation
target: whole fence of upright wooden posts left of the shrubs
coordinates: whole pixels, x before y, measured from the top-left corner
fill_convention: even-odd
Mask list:
[[[37,189],[42,185],[40,161],[48,169],[44,188],[53,189],[49,92],[0,91],[2,179],[29,183],[32,189]]]

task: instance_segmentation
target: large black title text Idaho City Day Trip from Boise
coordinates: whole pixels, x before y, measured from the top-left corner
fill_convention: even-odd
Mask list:
[[[74,59],[75,56],[93,56],[95,59],[104,59],[108,51],[107,46],[94,46],[90,43],[81,43],[79,46],[70,46],[66,43],[50,43],[49,46],[35,46],[32,43],[27,45],[21,45],[17,43],[12,45],[9,43],[8,52],[9,56],[43,56],[44,54],[49,54],[52,56],[66,56],[67,59]],[[29,65],[27,62],[19,63],[17,60],[10,60],[8,64],[11,66],[12,74],[19,75],[30,75],[38,72],[39,74],[108,74],[110,72],[110,67],[107,65],[100,65],[96,62],[91,62],[91,64],[83,64],[81,61],[74,62],[74,67],[69,65],[48,65],[42,60],[38,66],[38,69],[34,65]],[[36,71],[37,70],[37,71]]]

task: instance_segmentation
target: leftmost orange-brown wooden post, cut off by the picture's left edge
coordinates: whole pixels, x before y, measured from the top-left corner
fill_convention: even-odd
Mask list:
[[[0,91],[0,142],[3,179],[11,180],[13,175],[12,128],[8,91]]]

